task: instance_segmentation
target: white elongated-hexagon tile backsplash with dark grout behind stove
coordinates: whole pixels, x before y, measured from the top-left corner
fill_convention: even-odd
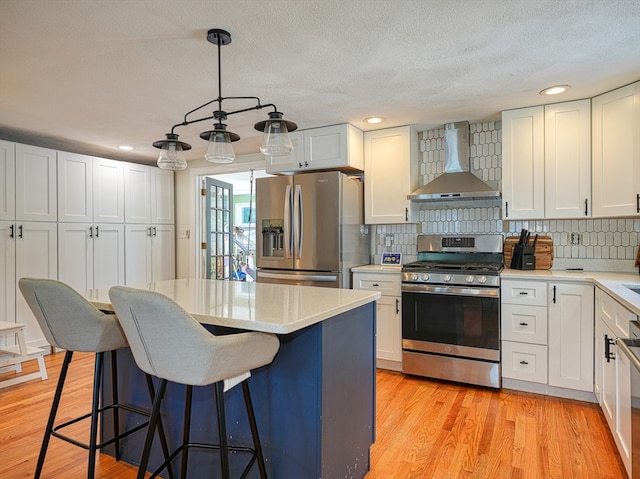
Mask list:
[[[470,125],[470,160],[473,174],[501,190],[502,125],[500,122]],[[444,129],[421,133],[420,186],[444,172]],[[551,236],[554,268],[584,267],[635,271],[633,261],[640,244],[640,218],[503,221],[495,200],[450,203],[420,203],[415,224],[376,225],[373,261],[383,252],[403,253],[403,262],[417,257],[418,234],[488,234],[517,236],[522,228]],[[571,244],[571,233],[580,234],[580,244]]]

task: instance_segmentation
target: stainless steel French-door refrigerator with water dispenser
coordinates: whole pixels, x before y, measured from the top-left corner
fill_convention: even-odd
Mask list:
[[[338,171],[256,180],[257,281],[351,287],[369,263],[363,184]]]

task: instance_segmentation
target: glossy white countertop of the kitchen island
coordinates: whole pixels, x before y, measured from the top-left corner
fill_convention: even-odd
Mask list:
[[[381,297],[377,291],[195,278],[132,287],[170,297],[204,324],[275,334],[293,333]],[[113,310],[108,289],[81,294],[96,307]]]

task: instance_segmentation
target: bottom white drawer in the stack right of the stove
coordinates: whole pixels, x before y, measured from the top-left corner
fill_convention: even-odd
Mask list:
[[[547,347],[503,341],[502,377],[546,384]]]

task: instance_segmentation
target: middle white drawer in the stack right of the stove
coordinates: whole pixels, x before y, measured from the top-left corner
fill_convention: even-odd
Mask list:
[[[547,344],[547,308],[544,306],[502,305],[502,339]]]

